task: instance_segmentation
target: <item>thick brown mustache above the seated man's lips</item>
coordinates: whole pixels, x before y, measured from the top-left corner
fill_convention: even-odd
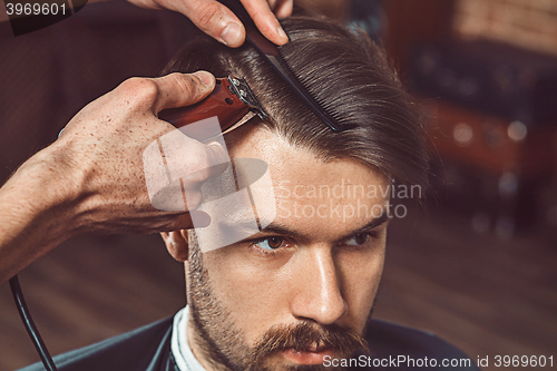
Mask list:
[[[255,345],[255,353],[257,358],[264,358],[284,349],[303,351],[314,346],[334,349],[340,354],[350,354],[356,350],[369,352],[365,339],[352,329],[302,321],[271,328]]]

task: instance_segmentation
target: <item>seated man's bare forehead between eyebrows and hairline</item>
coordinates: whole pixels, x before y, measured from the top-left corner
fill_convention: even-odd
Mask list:
[[[373,168],[352,158],[324,162],[265,126],[240,129],[231,157],[267,164],[276,202],[275,224],[301,235],[336,238],[387,211],[389,183]]]

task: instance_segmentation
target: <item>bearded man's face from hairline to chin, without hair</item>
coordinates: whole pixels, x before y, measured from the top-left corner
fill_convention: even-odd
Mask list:
[[[323,162],[263,126],[238,130],[231,157],[268,165],[277,215],[233,245],[190,244],[192,349],[208,369],[321,369],[324,357],[361,346],[384,260],[387,179],[353,159]]]

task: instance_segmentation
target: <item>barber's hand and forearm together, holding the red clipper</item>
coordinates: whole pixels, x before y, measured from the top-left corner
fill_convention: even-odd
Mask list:
[[[152,206],[144,149],[175,128],[157,118],[193,105],[215,87],[208,72],[133,78],[79,111],[60,138],[29,158],[0,188],[0,283],[63,241],[80,234],[153,233],[193,227],[190,213]],[[204,82],[202,82],[202,80]],[[188,211],[201,186],[228,160],[218,144],[179,137]],[[190,202],[192,201],[192,202]],[[196,226],[209,223],[203,212]]]

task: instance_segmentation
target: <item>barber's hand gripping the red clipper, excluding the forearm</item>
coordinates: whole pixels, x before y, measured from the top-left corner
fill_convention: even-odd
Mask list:
[[[62,174],[79,189],[75,197],[82,202],[75,221],[82,231],[153,233],[193,227],[189,213],[179,215],[152,206],[143,154],[149,144],[175,130],[159,120],[157,113],[193,105],[213,90],[215,78],[211,74],[197,76],[129,79],[86,106],[63,129],[51,149],[67,162]],[[183,178],[187,206],[195,208],[202,199],[202,184],[217,175],[212,173],[219,173],[209,165],[224,163],[227,156],[218,144],[204,145],[182,134],[179,140],[175,155],[183,162],[185,174],[196,174]],[[201,217],[208,225],[208,216]]]

